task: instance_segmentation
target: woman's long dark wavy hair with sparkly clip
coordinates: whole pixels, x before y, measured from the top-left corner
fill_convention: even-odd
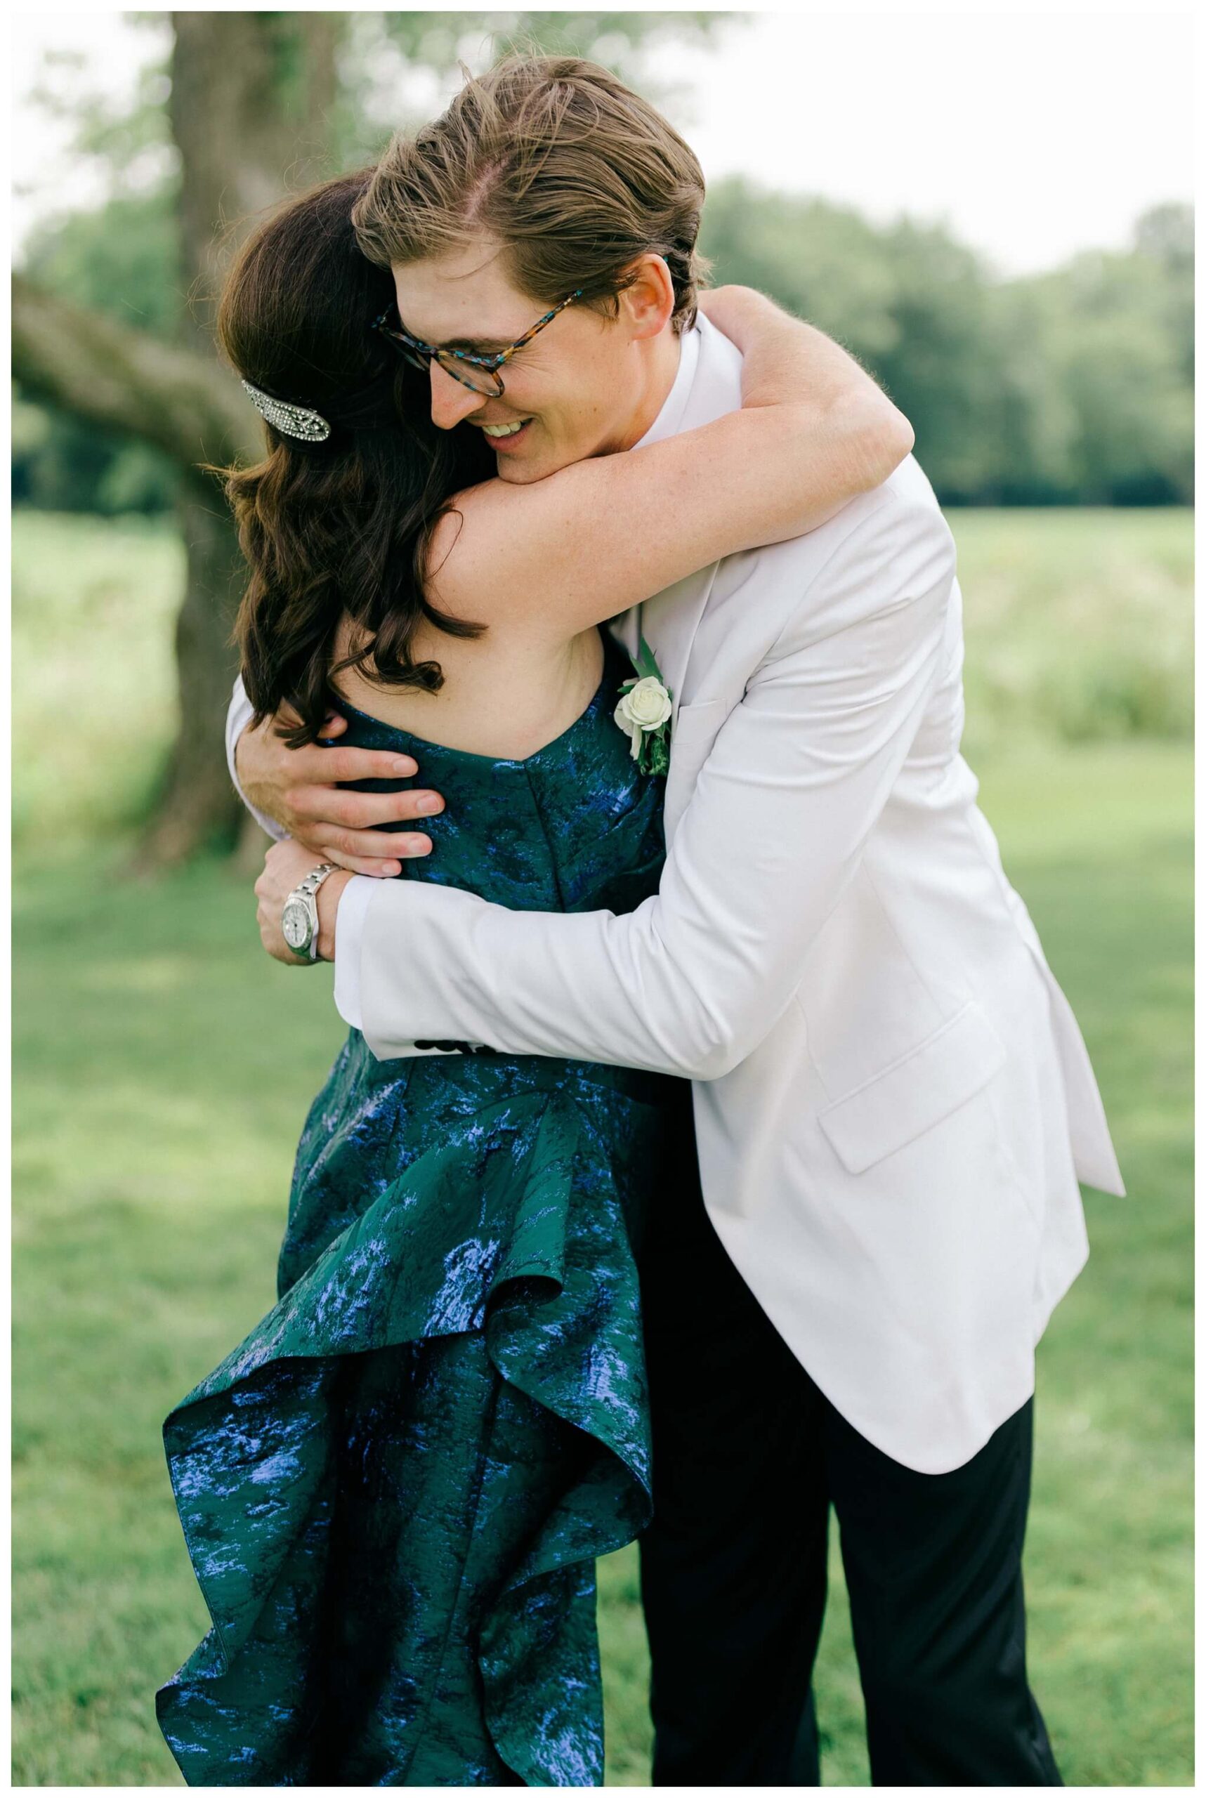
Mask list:
[[[340,669],[437,692],[439,662],[412,660],[419,624],[451,636],[483,629],[428,604],[424,566],[451,496],[492,475],[494,457],[480,432],[431,423],[426,376],[372,331],[394,282],[352,232],[370,176],[325,182],[261,225],[217,313],[237,374],[331,424],[324,442],[266,424],[264,460],[225,471],[250,566],[234,631],[243,683],[257,723],[293,707],[300,723],[280,728],[293,748],[313,743],[338,705],[331,676]],[[356,653],[336,663],[343,613],[358,628]]]

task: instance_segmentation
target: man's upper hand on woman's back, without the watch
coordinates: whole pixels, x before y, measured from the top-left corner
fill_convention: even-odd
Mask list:
[[[288,712],[279,714],[291,723]],[[322,743],[291,750],[275,732],[277,719],[248,726],[235,748],[239,784],[257,811],[277,823],[316,861],[334,861],[352,874],[386,877],[399,872],[401,859],[426,856],[431,838],[410,831],[383,831],[399,818],[431,816],[444,809],[439,793],[406,788],[401,793],[349,793],[343,780],[397,780],[415,775],[419,764],[394,750],[343,748],[338,737],[347,730],[341,717],[325,725]]]

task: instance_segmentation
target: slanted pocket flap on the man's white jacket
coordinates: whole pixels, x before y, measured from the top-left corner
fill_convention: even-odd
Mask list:
[[[974,1000],[933,1036],[820,1113],[820,1126],[850,1174],[861,1174],[924,1136],[987,1086],[1005,1045]]]

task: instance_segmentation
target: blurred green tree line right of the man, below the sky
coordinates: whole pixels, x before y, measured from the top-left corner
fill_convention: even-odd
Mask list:
[[[1193,493],[1193,219],[994,280],[942,227],[875,227],[742,178],[708,194],[714,279],[832,333],[913,421],[945,502],[1159,505]]]

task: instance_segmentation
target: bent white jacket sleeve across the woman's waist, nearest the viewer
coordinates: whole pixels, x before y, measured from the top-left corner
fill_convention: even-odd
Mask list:
[[[904,764],[953,579],[933,505],[890,494],[856,525],[721,726],[636,912],[374,883],[358,944],[372,1052],[453,1039],[703,1081],[737,1066],[787,1007]]]

